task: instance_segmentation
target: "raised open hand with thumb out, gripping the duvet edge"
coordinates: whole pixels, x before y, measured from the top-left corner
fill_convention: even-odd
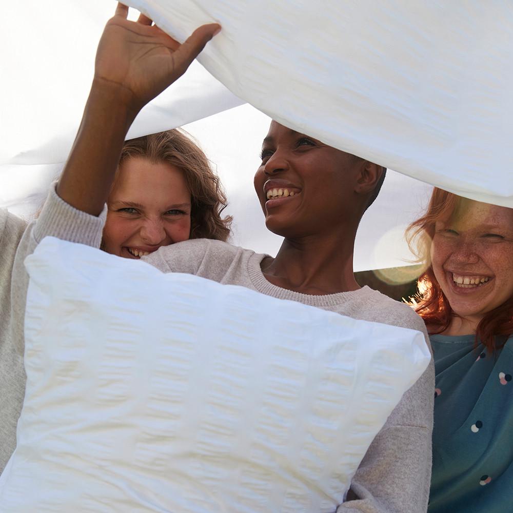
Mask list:
[[[119,87],[127,108],[138,112],[186,71],[221,27],[203,25],[180,44],[144,14],[136,22],[128,21],[127,14],[128,7],[119,3],[107,22],[96,53],[94,81],[98,87]]]

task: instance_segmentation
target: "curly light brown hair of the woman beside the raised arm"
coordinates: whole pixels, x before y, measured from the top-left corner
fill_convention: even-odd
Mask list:
[[[221,217],[227,205],[226,195],[205,153],[190,137],[175,128],[125,141],[116,177],[123,162],[133,157],[165,162],[183,171],[191,193],[189,239],[227,241],[232,218]]]

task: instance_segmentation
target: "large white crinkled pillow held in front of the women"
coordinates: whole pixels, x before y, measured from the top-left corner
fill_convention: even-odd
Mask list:
[[[415,330],[46,238],[0,511],[333,511],[429,361]]]

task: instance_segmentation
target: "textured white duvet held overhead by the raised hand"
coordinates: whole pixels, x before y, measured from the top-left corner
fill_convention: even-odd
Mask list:
[[[513,206],[513,4],[130,0],[273,119],[472,199]]]

